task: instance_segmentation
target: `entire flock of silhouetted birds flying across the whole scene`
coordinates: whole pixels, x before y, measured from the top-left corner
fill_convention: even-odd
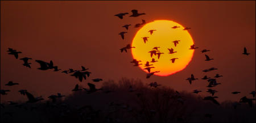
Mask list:
[[[138,10],[131,10],[132,14],[130,15],[130,17],[138,17],[138,16],[141,16],[141,15],[146,15],[145,13],[138,13]],[[118,18],[120,19],[123,19],[123,16],[129,14],[128,12],[125,12],[125,13],[119,13],[119,14],[116,14],[114,16],[117,16]],[[135,24],[135,28],[137,27],[142,27],[144,24],[146,24],[146,21],[145,20],[142,20],[142,23],[138,23],[138,24]],[[126,28],[127,30],[129,29],[129,26],[131,26],[131,24],[125,24],[125,26],[123,26],[124,28]],[[175,28],[180,28],[178,26],[174,26],[172,27],[172,29],[175,29]],[[184,28],[183,30],[188,30],[188,29],[191,29],[191,28]],[[148,31],[148,33],[150,33],[151,35],[154,35],[154,31],[157,31],[155,29],[151,29]],[[124,40],[125,39],[125,33],[127,32],[120,32],[119,35],[121,35],[121,38]],[[148,41],[148,38],[149,37],[142,37],[142,41],[146,44],[147,41]],[[178,46],[180,40],[176,40],[176,41],[172,41],[174,43],[175,46]],[[182,41],[181,41],[182,42]],[[127,49],[131,49],[131,48],[135,48],[134,46],[131,46],[130,44],[127,44],[125,47],[121,48],[121,53],[123,51],[127,52]],[[160,54],[163,54],[159,51],[159,48],[158,46],[155,46],[154,48],[152,48],[151,51],[149,51],[148,55],[151,56],[152,58],[152,55],[154,54],[155,56],[158,55],[158,59],[160,58]],[[195,44],[192,44],[191,45],[191,48],[188,48],[188,49],[192,49],[192,50],[195,50],[197,49],[198,47],[195,47]],[[169,54],[173,54],[173,53],[176,53],[174,51],[173,48],[171,49],[168,49],[169,50]],[[205,52],[209,52],[210,50],[207,50],[207,49],[204,49],[204,50],[201,50],[201,53],[205,53]],[[22,52],[18,52],[12,48],[9,48],[9,50],[7,50],[7,52],[9,52],[9,54],[11,55],[14,55],[16,59],[18,59],[18,54],[22,53]],[[243,53],[242,54],[245,54],[246,56],[248,56],[250,53],[247,53],[247,49],[244,48],[243,49]],[[178,58],[172,58],[170,61],[171,63],[175,63],[175,60],[178,59]],[[28,58],[28,57],[23,57],[23,58],[20,58],[20,60],[22,60],[24,63],[23,63],[23,66],[26,66],[26,67],[29,67],[31,68],[31,64],[32,63],[29,63],[28,61],[29,60],[32,60],[32,58]],[[214,60],[213,58],[210,58],[207,54],[205,54],[205,61],[210,61],[210,60]],[[53,65],[53,62],[50,61],[50,62],[46,62],[46,61],[42,61],[42,60],[35,60],[36,62],[38,62],[40,64],[40,67],[38,68],[39,70],[50,70],[50,69],[53,69],[53,71],[60,71],[61,69],[58,68],[58,66],[55,66]],[[134,66],[139,66],[139,65],[142,65],[142,63],[139,63],[139,62],[142,62],[142,61],[138,61],[138,60],[133,60],[131,61],[131,63],[134,63]],[[160,71],[154,71],[154,72],[151,72],[151,69],[155,68],[152,64],[150,63],[154,63],[154,62],[158,62],[157,60],[155,60],[154,58],[152,58],[152,61],[146,61],[146,63],[144,64],[144,69],[148,71],[148,73],[146,74],[146,78],[150,78],[152,75],[154,75],[154,73],[158,73]],[[211,67],[209,69],[205,69],[203,70],[203,72],[207,73],[209,71],[212,71],[212,70],[217,70],[216,68],[214,67]],[[65,74],[70,74],[71,76],[79,79],[80,82],[82,82],[83,79],[86,79],[86,76],[89,77],[89,75],[91,74],[88,69],[86,69],[84,66],[81,66],[81,70],[73,70],[73,69],[68,69],[68,70],[63,70],[61,71],[61,73],[65,73]],[[207,77],[207,75],[205,75],[203,78],[203,80],[207,80],[207,82],[209,83],[208,84],[208,92],[211,96],[206,96],[204,97],[204,100],[210,100],[212,101],[214,104],[217,104],[217,105],[220,105],[218,103],[218,101],[216,100],[216,98],[218,98],[217,96],[214,96],[214,94],[218,91],[216,90],[212,90],[212,87],[216,87],[218,84],[221,84],[221,83],[218,83],[217,82],[217,78],[220,78],[220,77],[223,77],[222,75],[219,75],[219,74],[216,74],[215,77],[213,78],[210,78],[210,77]],[[198,78],[195,78],[193,74],[191,74],[191,77],[185,79],[185,80],[188,80],[188,82],[190,84],[192,84],[193,81],[197,80]],[[93,82],[100,82],[102,81],[103,79],[101,78],[96,78],[96,79],[92,79]],[[19,83],[14,83],[12,81],[8,82],[7,84],[5,84],[5,86],[15,86],[15,85],[18,85]],[[87,92],[87,94],[91,94],[92,92],[96,92],[96,91],[99,91],[99,90],[102,90],[102,88],[96,88],[96,86],[92,83],[88,83],[88,86],[89,86],[89,89],[87,88],[80,88],[79,87],[79,84],[76,84],[75,85],[75,88],[72,90],[72,91],[82,91],[82,90],[85,90]],[[148,84],[148,86],[150,87],[158,87],[158,86],[161,86],[161,84],[158,84],[157,82],[152,82],[150,84]],[[0,91],[0,94],[1,95],[7,95],[6,92],[9,92],[10,90],[1,90]],[[129,91],[130,92],[133,92],[135,91],[133,89],[133,87],[129,87]],[[32,94],[30,94],[30,92],[28,92],[27,90],[19,90],[18,91],[21,95],[26,95],[27,98],[28,98],[28,101],[27,103],[36,103],[37,101],[40,101],[40,100],[44,100],[42,98],[42,96],[39,96],[39,97],[34,97]],[[111,90],[107,90],[106,93],[108,92],[112,92]],[[199,94],[199,92],[202,92],[200,90],[194,90],[193,93],[195,94]],[[176,91],[176,93],[179,95],[179,92]],[[238,92],[238,91],[234,91],[232,92],[231,94],[240,94],[241,92]],[[251,95],[253,95],[253,97],[255,97],[255,91],[252,91],[250,93]],[[49,99],[52,99],[53,102],[56,101],[57,98],[60,98],[60,97],[64,97],[65,95],[61,95],[60,93],[57,93],[57,95],[50,95],[48,96]],[[179,97],[178,99],[179,101],[182,101],[183,99],[181,99],[181,97]],[[251,106],[252,104],[252,100],[255,100],[255,99],[249,99],[247,98],[246,96],[243,96],[241,99],[240,99],[240,103],[249,103],[249,105]],[[12,101],[9,102],[10,104],[14,104]]]

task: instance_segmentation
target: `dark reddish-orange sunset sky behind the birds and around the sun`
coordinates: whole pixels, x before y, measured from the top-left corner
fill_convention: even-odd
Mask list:
[[[146,15],[119,19],[115,14],[137,9]],[[118,35],[126,31],[125,24],[146,23],[154,20],[173,20],[184,27],[196,46],[191,62],[176,74],[168,77],[146,73],[134,67],[131,50],[121,53],[120,48],[131,44],[139,28],[127,30],[125,40]],[[246,46],[249,56],[242,54]],[[19,58],[31,57],[31,69],[22,65],[6,50],[21,51]],[[200,51],[214,58],[204,61]],[[83,82],[75,77],[52,70],[38,70],[34,60],[53,61],[60,69],[88,67],[92,74]],[[216,67],[205,74],[202,70]],[[221,84],[214,87],[219,101],[239,100],[255,91],[255,1],[1,1],[1,101],[27,100],[18,91],[26,89],[35,96],[60,92],[72,94],[75,84],[86,87],[91,79],[118,81],[122,77],[141,79],[144,83],[158,82],[177,91],[207,91],[205,80],[192,84],[185,79],[195,75],[214,77]],[[9,81],[18,86],[7,87]],[[101,83],[96,83],[97,87]],[[233,91],[241,94],[232,95]],[[209,95],[202,92],[200,95]]]

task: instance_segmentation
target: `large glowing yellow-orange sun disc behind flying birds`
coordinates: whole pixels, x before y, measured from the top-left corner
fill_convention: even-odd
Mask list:
[[[150,67],[154,67],[150,69],[150,72],[160,71],[154,74],[159,76],[168,76],[185,69],[192,60],[194,49],[189,48],[194,42],[188,30],[183,29],[184,27],[181,24],[171,20],[155,20],[139,29],[131,44],[135,46],[135,48],[131,49],[133,58],[142,63],[139,67],[148,73],[144,69],[146,68],[144,64],[148,61],[151,65]],[[150,30],[155,31],[152,31],[151,34]],[[144,41],[143,37],[147,40]],[[175,46],[173,41],[178,42],[178,44]],[[159,58],[158,54],[155,55],[153,53],[151,57],[151,53],[148,53],[151,50],[156,50],[153,49],[154,47],[160,47],[156,53],[163,53],[160,54]],[[169,49],[171,48],[174,49],[173,52],[175,53],[170,54]],[[152,58],[157,62],[151,62]],[[172,58],[178,59],[175,59],[174,63],[172,63]]]

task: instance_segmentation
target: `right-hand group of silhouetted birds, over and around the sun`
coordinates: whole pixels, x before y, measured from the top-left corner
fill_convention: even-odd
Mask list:
[[[139,14],[139,13],[138,13],[138,10],[131,10],[131,12],[132,12],[133,14],[130,15],[130,16],[133,16],[133,17],[145,15],[145,13]],[[125,16],[126,14],[129,14],[129,13],[128,13],[128,12],[119,13],[119,14],[116,14],[115,16],[118,16],[118,18],[123,19],[123,16]],[[146,21],[142,19],[142,23],[141,23],[141,24],[135,24],[134,27],[141,27],[141,26],[143,26],[144,24],[146,24]],[[126,24],[126,25],[123,26],[123,27],[125,27],[126,29],[128,29],[129,26],[131,26],[131,24]],[[172,29],[176,29],[176,28],[180,28],[180,27],[179,27],[179,26],[174,26],[174,27],[172,27]],[[191,28],[185,27],[183,30],[186,31],[186,30],[188,30],[188,29],[191,29]],[[157,30],[156,30],[156,29],[150,29],[150,30],[148,31],[148,33],[150,33],[150,35],[152,35],[155,31],[157,31]],[[127,33],[127,32],[120,32],[120,33],[119,33],[119,35],[121,35],[121,38],[122,38],[123,40],[125,39],[125,33]],[[147,41],[148,41],[148,38],[149,38],[149,37],[142,37],[142,41],[146,44]],[[180,42],[180,40],[172,41],[172,43],[174,43],[174,46],[175,46],[175,47],[179,44],[179,42]],[[120,50],[121,50],[121,53],[122,53],[123,51],[127,52],[127,49],[131,49],[131,48],[135,48],[135,47],[134,47],[134,46],[131,46],[130,44],[128,44],[126,47],[123,47],[123,48],[121,48]],[[152,56],[153,56],[153,54],[154,54],[155,56],[157,55],[157,56],[158,56],[158,59],[159,59],[159,58],[160,58],[160,55],[161,55],[161,54],[164,54],[164,53],[161,53],[161,52],[158,50],[159,48],[160,48],[159,46],[155,46],[154,48],[152,48],[151,51],[148,52],[148,53],[150,53],[150,57],[151,57],[151,58],[152,58]],[[196,47],[195,44],[192,44],[192,45],[190,46],[190,48],[188,48],[188,49],[195,50],[195,49],[197,49],[197,48],[198,48],[198,47]],[[177,53],[176,51],[174,51],[173,48],[170,48],[170,49],[168,48],[168,50],[169,50],[169,54]],[[208,49],[203,49],[203,50],[201,50],[201,53],[205,53],[205,52],[210,52],[210,50],[208,50]],[[242,54],[245,54],[246,56],[248,56],[250,53],[247,53],[247,49],[244,48]],[[177,60],[177,59],[179,59],[179,58],[172,58],[170,61],[171,61],[172,63],[175,63],[175,60]],[[207,54],[205,54],[205,61],[211,61],[211,60],[214,60],[214,59],[213,59],[213,58],[210,58]],[[133,61],[131,61],[131,63],[134,63],[134,66],[143,65],[143,64],[140,63],[140,62],[142,62],[142,61],[136,60],[136,59],[134,59]],[[158,62],[158,61],[156,61],[155,58],[152,58],[151,61],[146,61],[146,63],[144,64],[144,67],[145,67],[144,70],[147,70],[147,71],[148,71],[148,73],[146,74],[146,78],[150,78],[150,77],[151,77],[152,75],[154,75],[155,73],[160,72],[160,71],[151,72],[151,69],[153,69],[153,68],[155,68],[155,67],[152,66],[152,64],[150,64],[150,62],[151,62],[151,63],[154,63],[154,62]],[[214,67],[211,67],[211,68],[209,68],[209,69],[203,70],[203,72],[207,73],[207,72],[212,71],[212,70],[217,70],[217,69],[214,68]],[[221,84],[221,83],[218,83],[217,80],[216,80],[216,78],[220,78],[220,77],[223,77],[223,76],[220,75],[220,74],[216,74],[216,76],[215,76],[214,78],[207,77],[207,75],[205,75],[203,78],[201,78],[201,79],[203,79],[203,80],[207,80],[207,82],[209,83],[208,86],[207,86],[207,87],[208,87],[208,91],[206,91],[206,92],[208,92],[209,94],[212,95],[212,96],[204,97],[204,100],[210,100],[210,101],[212,101],[214,104],[217,104],[217,105],[220,105],[220,103],[218,103],[218,101],[216,100],[216,98],[218,98],[218,97],[217,97],[217,96],[214,96],[214,94],[215,94],[216,92],[218,92],[218,91],[212,90],[211,88],[212,88],[212,87],[216,87],[218,84]],[[192,84],[192,81],[194,81],[194,80],[196,80],[196,79],[198,79],[198,78],[195,78],[194,75],[191,74],[191,77],[189,77],[189,78],[187,78],[187,79],[185,79],[185,80],[188,80],[189,83]],[[150,87],[158,87],[158,86],[160,86],[160,84],[157,84],[157,82],[154,82],[154,83],[152,82],[152,83],[150,83],[150,84],[148,84],[148,85],[149,85]],[[202,92],[202,91],[200,91],[200,90],[193,90],[193,93],[195,93],[195,94],[199,94],[199,92]],[[236,91],[235,91],[235,92],[232,92],[232,94],[239,94],[239,93],[240,93],[240,92],[236,92]],[[252,91],[250,94],[253,95],[253,97],[255,97],[255,91]],[[242,98],[240,99],[240,103],[249,103],[250,107],[252,107],[252,101],[253,101],[253,100],[255,100],[255,99],[249,99],[249,98],[247,98],[246,96],[244,96],[244,97],[242,97]],[[239,105],[239,103],[236,103],[236,105],[234,105],[234,107],[236,107],[237,105]]]

